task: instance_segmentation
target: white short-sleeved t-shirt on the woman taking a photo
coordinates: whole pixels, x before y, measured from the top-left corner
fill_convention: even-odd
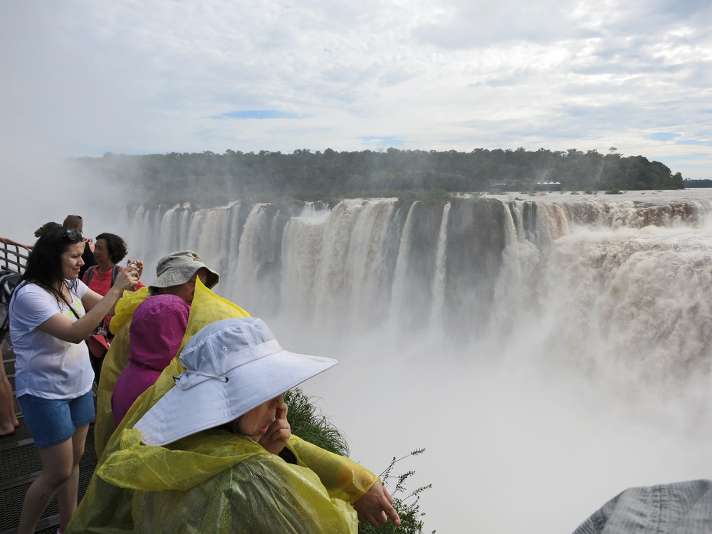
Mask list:
[[[72,308],[82,317],[82,297],[87,286],[67,281],[74,288]],[[68,343],[38,330],[53,315],[62,313],[72,322],[72,310],[59,303],[46,290],[28,283],[16,289],[10,301],[10,340],[15,352],[15,389],[17,396],[31,394],[43,399],[74,399],[91,389],[94,371],[85,342]]]

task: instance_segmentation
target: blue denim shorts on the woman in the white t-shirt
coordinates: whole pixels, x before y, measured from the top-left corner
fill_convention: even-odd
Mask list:
[[[75,399],[43,399],[25,394],[17,400],[38,449],[64,443],[77,426],[89,424],[95,417],[91,390]]]

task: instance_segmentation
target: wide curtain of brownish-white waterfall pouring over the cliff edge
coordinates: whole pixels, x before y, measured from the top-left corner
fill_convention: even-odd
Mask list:
[[[433,333],[651,382],[710,365],[705,201],[396,199],[140,206],[135,253],[190,248],[255,315],[359,335]],[[148,280],[150,282],[150,280]],[[508,345],[509,344],[509,345]]]

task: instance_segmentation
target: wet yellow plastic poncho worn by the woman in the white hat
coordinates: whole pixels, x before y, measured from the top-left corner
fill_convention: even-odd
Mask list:
[[[245,436],[210,430],[169,447],[141,445],[130,429],[98,469],[103,481],[133,491],[136,533],[357,532],[353,508],[332,498],[315,471]]]

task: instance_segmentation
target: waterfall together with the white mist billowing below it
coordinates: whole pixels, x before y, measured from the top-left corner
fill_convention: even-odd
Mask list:
[[[629,486],[712,478],[711,199],[695,193],[525,199],[535,229],[512,199],[501,227],[473,229],[503,248],[466,339],[444,320],[470,294],[449,280],[473,274],[449,263],[455,206],[428,222],[392,199],[308,205],[282,230],[265,206],[170,206],[125,224],[150,265],[197,246],[217,293],[283,346],[340,360],[305,390],[355,459],[380,471],[426,447],[402,471],[433,483],[427,532],[568,533]],[[412,241],[428,229],[430,248]]]

